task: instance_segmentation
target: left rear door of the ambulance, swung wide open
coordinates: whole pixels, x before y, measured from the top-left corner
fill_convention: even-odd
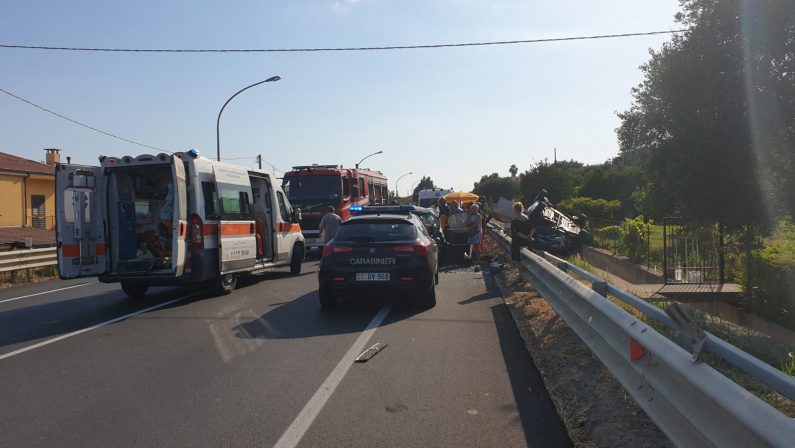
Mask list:
[[[62,279],[103,274],[108,268],[102,168],[58,164],[55,173],[58,271]]]

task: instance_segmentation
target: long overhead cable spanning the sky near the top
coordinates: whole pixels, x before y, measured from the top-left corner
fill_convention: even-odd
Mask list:
[[[92,47],[58,47],[44,45],[12,45],[0,44],[0,48],[16,48],[22,50],[52,51],[98,51],[106,53],[290,53],[320,51],[378,51],[378,50],[421,50],[431,48],[485,47],[494,45],[536,44],[544,42],[565,42],[573,40],[614,39],[619,37],[653,36],[657,34],[676,34],[687,30],[647,31],[643,33],[600,34],[594,36],[549,37],[541,39],[503,40],[492,42],[461,42],[451,44],[426,45],[390,45],[383,47],[337,47],[337,48],[92,48]]]

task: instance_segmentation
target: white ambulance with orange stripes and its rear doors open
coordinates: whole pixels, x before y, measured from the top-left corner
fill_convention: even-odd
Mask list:
[[[150,286],[301,271],[300,210],[264,171],[184,153],[99,158],[56,168],[61,278],[98,276],[131,297]]]

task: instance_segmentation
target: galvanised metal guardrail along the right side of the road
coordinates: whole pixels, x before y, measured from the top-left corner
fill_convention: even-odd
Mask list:
[[[510,252],[510,237],[495,227],[490,227],[489,232],[503,250]],[[677,446],[792,446],[795,421],[708,364],[693,362],[691,353],[605,300],[596,290],[614,295],[663,325],[677,328],[663,310],[564,260],[546,256],[556,264],[522,249],[525,278]],[[592,281],[593,289],[564,270]],[[766,384],[777,385],[771,387],[782,394],[795,385],[792,378],[765,369],[762,361],[713,335],[707,334],[705,348],[754,372],[752,375]]]

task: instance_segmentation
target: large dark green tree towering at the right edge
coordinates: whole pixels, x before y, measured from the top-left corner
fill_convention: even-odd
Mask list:
[[[620,113],[635,194],[659,218],[764,229],[795,210],[795,8],[791,0],[684,0],[688,28],[642,67]]]

